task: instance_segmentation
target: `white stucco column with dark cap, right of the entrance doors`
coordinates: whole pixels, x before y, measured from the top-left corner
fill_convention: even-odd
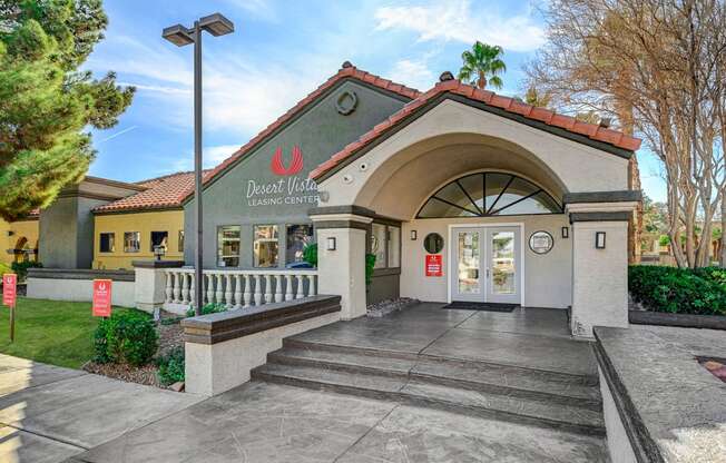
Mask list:
[[[593,326],[628,326],[628,224],[631,211],[571,213],[575,336],[592,337]],[[596,235],[605,233],[605,248]]]

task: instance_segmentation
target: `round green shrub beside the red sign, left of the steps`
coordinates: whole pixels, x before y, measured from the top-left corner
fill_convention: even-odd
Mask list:
[[[158,348],[159,335],[148,314],[138,311],[115,312],[99,322],[94,335],[98,363],[149,363]]]

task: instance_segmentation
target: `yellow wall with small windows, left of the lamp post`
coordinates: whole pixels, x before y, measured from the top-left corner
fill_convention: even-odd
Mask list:
[[[94,217],[94,268],[134,268],[133,260],[154,259],[151,232],[168,232],[167,250],[164,260],[184,260],[184,248],[179,246],[179,232],[184,230],[184,210],[159,210],[148,213],[108,214]],[[138,253],[124,252],[124,233],[140,233]],[[115,235],[115,252],[100,252],[100,235]]]

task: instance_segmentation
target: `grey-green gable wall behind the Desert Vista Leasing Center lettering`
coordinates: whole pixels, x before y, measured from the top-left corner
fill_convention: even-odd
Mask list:
[[[342,116],[335,108],[335,100],[343,91],[354,91],[357,96],[357,107],[349,116]],[[253,265],[253,225],[277,225],[279,232],[281,257],[285,248],[285,225],[310,224],[307,210],[317,205],[316,190],[296,193],[293,198],[305,198],[297,204],[287,204],[287,188],[300,186],[307,174],[321,162],[343,148],[352,140],[380,124],[391,114],[399,110],[404,101],[384,95],[367,86],[346,80],[336,86],[312,108],[290,122],[282,131],[219,177],[204,191],[204,247],[205,267],[216,266],[217,227],[223,225],[239,225],[241,229],[241,267]],[[283,151],[284,166],[291,165],[292,150],[298,146],[303,152],[303,169],[293,176],[277,176],[271,170],[271,160],[279,147]],[[229,154],[232,155],[232,152]],[[257,186],[278,184],[282,180],[283,193],[256,195],[248,198],[249,181]],[[292,184],[291,184],[292,183]],[[251,206],[249,200],[275,200],[282,204]],[[293,201],[294,203],[294,201]],[[194,262],[194,200],[185,205],[186,240],[185,260]],[[284,258],[279,259],[284,266]]]

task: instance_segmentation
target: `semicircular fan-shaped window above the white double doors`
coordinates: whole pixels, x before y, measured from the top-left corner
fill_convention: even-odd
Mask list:
[[[483,196],[483,197],[482,197],[482,207],[479,207],[479,205],[477,205],[477,203],[475,203],[475,200],[472,198],[470,191],[468,191],[468,190],[462,186],[462,183],[461,183],[461,180],[462,180],[463,178],[471,177],[471,176],[474,176],[474,175],[479,175],[479,176],[481,176],[481,181],[482,181],[482,185],[481,185],[481,186],[482,186],[482,196]],[[507,180],[504,187],[499,191],[497,198],[492,201],[492,204],[491,204],[489,207],[487,206],[487,177],[488,177],[488,175],[509,176],[509,179]],[[504,205],[504,206],[496,207],[496,206],[498,206],[498,203],[499,203],[499,200],[502,198],[502,196],[507,193],[508,188],[509,188],[513,183],[517,183],[517,181],[519,181],[519,183],[524,183],[524,184],[530,185],[530,186],[532,187],[532,191],[529,193],[529,194],[527,194],[527,195],[524,195],[524,196],[522,196],[522,197],[520,197],[520,198],[517,199],[517,200],[513,200],[513,201],[511,201],[511,203]],[[467,207],[461,206],[461,205],[458,205],[458,204],[455,204],[455,203],[452,203],[452,201],[450,201],[450,200],[448,200],[448,199],[442,198],[442,197],[439,196],[443,190],[445,190],[447,188],[449,188],[449,187],[452,186],[452,185],[457,185],[457,186],[459,187],[459,189],[461,190],[461,193],[463,193],[464,197],[468,198],[469,204],[467,205]],[[502,211],[506,211],[506,210],[509,209],[510,207],[516,206],[516,205],[518,205],[518,204],[520,204],[520,203],[522,203],[522,201],[524,201],[524,200],[527,200],[527,199],[534,198],[534,197],[538,196],[538,195],[546,195],[547,198],[549,199],[549,201],[551,201],[552,205],[556,205],[556,206],[557,206],[557,210],[550,210],[550,211],[548,211],[548,213],[500,214],[500,213],[502,213]],[[423,209],[424,209],[424,208],[425,208],[425,207],[426,207],[426,206],[428,206],[432,200],[433,200],[433,201],[442,203],[442,204],[449,206],[449,208],[455,208],[455,209],[459,209],[459,210],[461,210],[462,213],[467,213],[468,215],[452,216],[452,215],[447,215],[447,214],[436,214],[435,216],[425,216],[425,217],[422,216],[421,213],[423,211]],[[435,203],[434,203],[434,204],[435,204]],[[547,207],[547,206],[544,205],[544,207]],[[485,210],[484,210],[484,209],[485,209]],[[548,208],[548,209],[549,209],[549,208]],[[455,179],[453,179],[453,180],[451,180],[451,181],[448,181],[445,185],[443,185],[443,186],[441,186],[440,188],[438,188],[438,189],[436,189],[432,195],[430,195],[430,196],[426,198],[425,201],[423,201],[423,204],[422,204],[421,207],[419,208],[419,211],[416,213],[416,219],[428,219],[428,218],[465,218],[465,217],[469,217],[469,218],[471,218],[471,217],[507,217],[507,216],[530,216],[530,215],[532,215],[532,216],[534,216],[534,215],[537,215],[537,216],[544,216],[544,215],[562,214],[562,211],[563,211],[563,209],[562,209],[562,205],[560,205],[560,203],[557,201],[557,200],[552,197],[552,195],[550,195],[550,194],[549,194],[544,188],[542,188],[541,186],[537,185],[536,183],[533,183],[533,181],[531,181],[531,180],[529,180],[529,179],[527,179],[527,178],[524,178],[524,177],[518,176],[518,175],[516,175],[516,174],[510,174],[510,173],[500,173],[500,171],[487,171],[487,170],[484,170],[484,171],[470,173],[470,174],[463,175],[463,176],[458,177],[458,178],[455,178]]]

